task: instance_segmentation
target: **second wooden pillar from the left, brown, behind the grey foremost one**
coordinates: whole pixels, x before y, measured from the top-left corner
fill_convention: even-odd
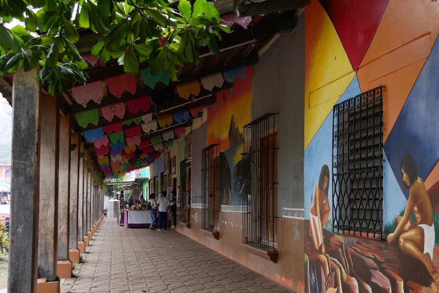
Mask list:
[[[38,278],[57,282],[59,106],[57,96],[40,98],[40,211]],[[44,283],[39,283],[41,287]],[[40,291],[40,288],[38,289]],[[49,290],[45,290],[49,291]],[[50,290],[51,291],[51,290]],[[59,290],[58,290],[59,291]]]

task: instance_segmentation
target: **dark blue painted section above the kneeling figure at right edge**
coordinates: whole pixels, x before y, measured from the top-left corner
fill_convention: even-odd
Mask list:
[[[405,153],[415,159],[418,176],[425,180],[439,160],[439,44],[433,46],[384,146],[390,166],[401,185]],[[408,198],[408,190],[404,191]]]

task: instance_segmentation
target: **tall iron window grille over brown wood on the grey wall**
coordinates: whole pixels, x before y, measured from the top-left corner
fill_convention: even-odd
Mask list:
[[[242,241],[277,251],[278,115],[265,114],[243,126]]]

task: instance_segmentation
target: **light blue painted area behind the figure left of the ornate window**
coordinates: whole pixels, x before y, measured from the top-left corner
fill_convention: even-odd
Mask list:
[[[347,87],[344,94],[340,97],[337,103],[345,101],[351,97],[361,94],[360,85],[356,75],[352,82]],[[305,219],[310,217],[310,208],[312,204],[312,197],[316,184],[319,181],[320,170],[323,165],[327,165],[332,172],[332,130],[333,130],[333,111],[326,117],[323,124],[320,126],[316,135],[314,136],[308,148],[305,150]],[[328,198],[330,206],[332,207],[332,191],[333,184],[328,190]],[[330,217],[332,219],[332,216]]]

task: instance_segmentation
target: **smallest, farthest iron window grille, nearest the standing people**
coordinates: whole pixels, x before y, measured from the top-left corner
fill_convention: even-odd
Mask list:
[[[180,162],[180,222],[190,222],[190,189],[191,189],[191,162],[190,159],[184,159]]]

